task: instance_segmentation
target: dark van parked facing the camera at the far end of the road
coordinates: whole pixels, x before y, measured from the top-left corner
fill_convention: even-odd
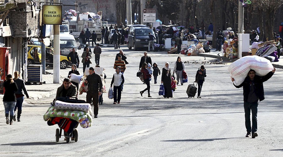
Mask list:
[[[149,36],[148,33],[154,34],[153,29],[149,27],[130,27],[128,34],[128,48],[129,50],[134,47],[136,51],[137,48],[147,48]]]

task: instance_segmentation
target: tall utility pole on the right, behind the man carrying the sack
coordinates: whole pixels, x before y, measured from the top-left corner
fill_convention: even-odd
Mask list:
[[[243,34],[244,34],[244,9],[242,2],[239,1],[238,7],[238,58],[242,57],[243,51]]]

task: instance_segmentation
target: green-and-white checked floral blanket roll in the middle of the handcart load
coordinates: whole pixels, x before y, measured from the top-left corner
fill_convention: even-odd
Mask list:
[[[52,117],[70,118],[80,123],[83,128],[92,126],[92,116],[88,112],[74,110],[59,110],[54,106],[50,106],[47,112],[43,115],[43,119],[47,121]]]

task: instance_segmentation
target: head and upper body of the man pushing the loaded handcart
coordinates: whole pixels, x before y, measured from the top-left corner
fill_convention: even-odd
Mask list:
[[[63,84],[58,87],[56,98],[57,97],[76,97],[77,96],[77,87],[71,84],[70,78],[64,78]]]

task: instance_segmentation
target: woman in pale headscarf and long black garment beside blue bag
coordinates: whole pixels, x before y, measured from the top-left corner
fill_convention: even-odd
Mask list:
[[[164,68],[162,69],[161,83],[164,85],[164,98],[172,98],[172,90],[171,90],[171,69],[169,62],[165,63]]]

